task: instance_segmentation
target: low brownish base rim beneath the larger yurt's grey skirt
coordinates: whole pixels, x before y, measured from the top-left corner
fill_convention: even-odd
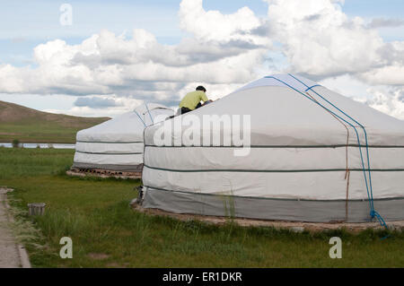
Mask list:
[[[253,219],[242,219],[242,218],[230,218],[230,217],[219,217],[219,216],[208,216],[199,214],[189,214],[189,213],[174,213],[166,212],[160,209],[150,209],[144,208],[140,204],[136,204],[134,200],[131,207],[135,212],[143,212],[149,215],[155,216],[168,216],[180,221],[204,221],[206,223],[212,223],[216,225],[224,225],[229,221],[238,224],[242,227],[272,227],[276,229],[286,229],[292,230],[294,232],[303,231],[325,231],[325,230],[347,230],[350,232],[360,232],[367,229],[382,230],[384,227],[378,222],[335,222],[335,223],[325,223],[325,222],[303,222],[303,221],[264,221],[264,220],[253,220]],[[389,221],[387,223],[389,230],[404,230],[404,221]]]

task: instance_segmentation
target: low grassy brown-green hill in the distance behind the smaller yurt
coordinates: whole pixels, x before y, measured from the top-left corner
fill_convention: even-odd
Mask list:
[[[0,100],[0,142],[75,143],[77,131],[109,119],[53,114]]]

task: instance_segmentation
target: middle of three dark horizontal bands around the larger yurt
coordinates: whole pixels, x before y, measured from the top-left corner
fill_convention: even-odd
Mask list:
[[[169,172],[201,173],[201,172],[238,172],[238,173],[315,173],[315,172],[346,172],[347,169],[166,169],[151,167],[144,164],[148,169],[157,169]],[[349,171],[369,171],[369,169],[349,169]],[[372,172],[402,172],[404,169],[370,169]]]

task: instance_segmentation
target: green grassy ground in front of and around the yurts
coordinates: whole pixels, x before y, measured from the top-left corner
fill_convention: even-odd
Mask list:
[[[0,186],[15,189],[13,206],[47,203],[25,243],[37,267],[403,267],[404,234],[343,230],[311,234],[272,228],[213,226],[134,212],[139,181],[69,178],[73,151],[0,148]],[[40,230],[35,234],[34,229]],[[31,236],[27,233],[31,231]],[[22,231],[23,232],[23,231]],[[27,236],[28,234],[28,236]],[[58,256],[73,239],[73,259]],[[342,238],[342,259],[329,258],[329,238]]]

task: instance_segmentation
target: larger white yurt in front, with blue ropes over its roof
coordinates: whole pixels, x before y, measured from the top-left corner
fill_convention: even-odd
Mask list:
[[[250,149],[241,149],[234,126]],[[404,220],[404,122],[301,76],[275,74],[147,127],[142,177],[143,207],[167,212]]]

